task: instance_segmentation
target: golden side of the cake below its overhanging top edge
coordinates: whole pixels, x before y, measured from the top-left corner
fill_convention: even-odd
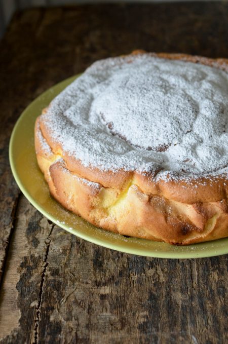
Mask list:
[[[104,187],[66,168],[47,149],[39,119],[35,127],[37,162],[52,196],[63,207],[105,230],[136,238],[187,245],[228,236],[227,201],[186,204],[144,193],[129,180],[125,187]]]

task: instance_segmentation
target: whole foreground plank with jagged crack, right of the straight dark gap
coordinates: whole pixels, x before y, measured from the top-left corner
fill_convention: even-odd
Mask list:
[[[53,226],[24,197],[16,219],[2,343],[228,339],[227,256],[171,260],[105,249]]]

